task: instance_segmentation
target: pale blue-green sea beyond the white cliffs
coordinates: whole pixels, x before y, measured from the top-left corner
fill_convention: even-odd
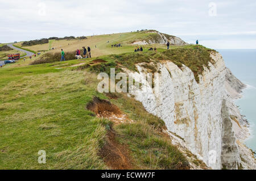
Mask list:
[[[242,98],[235,100],[240,107],[242,115],[250,123],[251,137],[245,144],[252,150],[256,150],[256,49],[219,49],[226,67],[247,85],[243,89]]]

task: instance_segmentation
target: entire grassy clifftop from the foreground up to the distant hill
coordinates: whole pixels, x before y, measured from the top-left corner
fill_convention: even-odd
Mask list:
[[[211,50],[195,45],[166,50],[156,44],[143,46],[144,52],[133,52],[135,46],[129,43],[141,35],[147,34],[51,40],[30,49],[59,45],[71,51],[90,45],[93,58],[30,65],[42,53],[1,68],[0,169],[189,169],[187,158],[162,132],[163,121],[126,94],[98,92],[97,73],[112,67],[121,71],[122,66],[136,71],[134,64],[138,62],[171,60],[178,66],[189,66],[197,75],[207,65]],[[119,42],[123,47],[111,48]],[[149,51],[149,47],[158,50]],[[59,48],[49,52],[59,52]],[[154,67],[148,68],[154,71]],[[88,109],[95,98],[109,100],[131,121],[116,123],[101,118]],[[117,153],[117,148],[122,153]],[[39,150],[46,150],[46,164],[38,163]]]

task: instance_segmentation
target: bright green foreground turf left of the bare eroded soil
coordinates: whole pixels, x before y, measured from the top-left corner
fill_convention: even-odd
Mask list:
[[[89,73],[36,66],[7,71],[1,79],[1,169],[106,168],[97,156],[105,127],[84,108],[96,94],[96,82],[84,85]],[[46,165],[37,163],[41,149]]]

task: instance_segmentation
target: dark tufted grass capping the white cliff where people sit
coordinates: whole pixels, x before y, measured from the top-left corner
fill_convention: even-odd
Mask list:
[[[156,72],[154,65],[150,64],[163,60],[174,62],[179,68],[184,64],[191,69],[195,75],[195,79],[199,82],[199,75],[201,75],[205,68],[209,68],[209,62],[214,64],[210,57],[210,53],[215,52],[212,49],[205,48],[199,45],[185,45],[182,47],[172,47],[170,50],[158,49],[158,52],[146,50],[144,52],[131,52],[122,54],[112,54],[110,56],[97,57],[105,60],[106,63],[97,64],[93,66],[84,65],[84,68],[90,71],[110,72],[110,68],[117,68],[116,73],[120,70],[120,65],[133,71],[137,71],[136,64],[144,62],[144,68],[148,71]]]

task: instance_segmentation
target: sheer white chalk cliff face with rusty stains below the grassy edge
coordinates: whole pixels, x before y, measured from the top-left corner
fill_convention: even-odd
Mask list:
[[[244,85],[226,68],[221,54],[214,52],[211,57],[215,63],[209,62],[199,83],[188,67],[180,69],[171,61],[160,61],[154,88],[146,81],[143,63],[138,64],[138,72],[126,71],[135,81],[141,79],[143,86],[133,87],[130,94],[163,119],[168,132],[183,138],[186,148],[212,169],[255,169],[249,150],[243,155],[249,163],[241,161],[240,151],[247,149],[242,144],[247,123],[233,103]]]

